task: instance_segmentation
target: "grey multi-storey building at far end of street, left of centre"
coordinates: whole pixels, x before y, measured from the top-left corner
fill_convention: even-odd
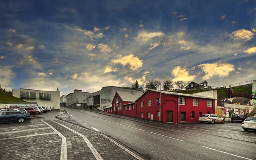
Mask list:
[[[86,99],[93,93],[83,92],[82,90],[75,89],[73,93],[67,95],[67,107],[76,109],[87,109]]]

